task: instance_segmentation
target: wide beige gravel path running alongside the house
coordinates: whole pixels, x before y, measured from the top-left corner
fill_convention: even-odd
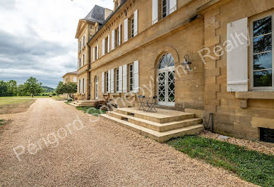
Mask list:
[[[253,186],[62,101],[0,119],[0,186]]]

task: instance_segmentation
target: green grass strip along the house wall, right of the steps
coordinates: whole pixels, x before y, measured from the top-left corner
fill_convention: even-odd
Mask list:
[[[199,136],[174,138],[167,143],[190,157],[230,170],[245,181],[274,186],[274,155]]]

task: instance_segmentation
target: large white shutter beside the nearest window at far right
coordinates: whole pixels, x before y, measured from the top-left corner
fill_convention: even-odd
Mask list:
[[[248,18],[227,24],[227,41],[234,41],[236,34],[248,38]],[[227,50],[227,91],[248,91],[248,41]]]

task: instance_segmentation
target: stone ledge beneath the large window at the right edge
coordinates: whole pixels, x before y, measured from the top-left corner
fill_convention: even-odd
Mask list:
[[[274,99],[274,91],[243,91],[236,92],[235,96],[239,99]]]

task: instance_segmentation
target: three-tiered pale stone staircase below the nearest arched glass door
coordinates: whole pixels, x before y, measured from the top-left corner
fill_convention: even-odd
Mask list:
[[[178,136],[198,134],[203,130],[203,120],[194,114],[160,108],[157,108],[157,112],[119,108],[100,117],[161,143]]]

